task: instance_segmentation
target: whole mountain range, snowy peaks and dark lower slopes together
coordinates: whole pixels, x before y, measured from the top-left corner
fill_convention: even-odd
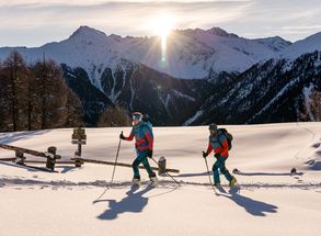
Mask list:
[[[110,103],[148,113],[157,125],[294,122],[303,91],[321,88],[321,33],[290,43],[219,27],[176,30],[165,57],[160,45],[158,36],[107,36],[81,26],[41,47],[1,47],[0,59],[16,49],[28,63],[44,55],[59,63],[89,125]]]

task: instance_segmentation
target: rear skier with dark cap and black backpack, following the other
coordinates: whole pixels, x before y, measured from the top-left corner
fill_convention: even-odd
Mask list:
[[[217,128],[216,124],[210,124],[209,127],[209,142],[206,151],[203,151],[203,157],[206,158],[213,150],[215,151],[216,162],[213,165],[214,184],[220,187],[220,178],[218,169],[229,181],[229,186],[232,187],[237,183],[237,179],[230,175],[226,168],[226,161],[229,157],[229,147],[226,135]]]

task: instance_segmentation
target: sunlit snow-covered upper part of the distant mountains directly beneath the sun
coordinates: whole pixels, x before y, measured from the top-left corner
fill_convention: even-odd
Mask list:
[[[274,57],[288,45],[282,38],[278,42],[251,41],[219,27],[174,31],[168,38],[165,61],[162,61],[161,43],[157,36],[106,36],[103,32],[81,26],[66,41],[16,49],[28,60],[39,59],[45,53],[70,67],[82,67],[100,87],[99,77],[103,69],[115,68],[123,58],[176,78],[204,78],[209,71],[243,71],[257,61]],[[0,48],[0,58],[5,58],[11,49]]]

